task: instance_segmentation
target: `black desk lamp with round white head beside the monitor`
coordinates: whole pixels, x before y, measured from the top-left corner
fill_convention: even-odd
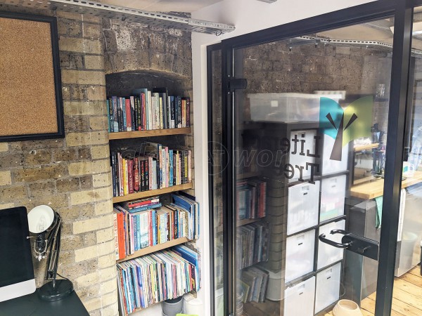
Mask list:
[[[39,297],[44,301],[59,301],[73,291],[73,284],[69,279],[56,279],[61,224],[60,215],[50,206],[39,205],[28,213],[30,232],[37,235],[34,242],[34,256],[38,261],[48,256],[45,279],[52,281],[44,284],[38,291]]]

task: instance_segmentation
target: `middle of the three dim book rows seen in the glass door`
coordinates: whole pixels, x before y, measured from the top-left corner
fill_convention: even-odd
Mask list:
[[[268,260],[269,225],[252,223],[238,228],[236,235],[236,264],[238,269]]]

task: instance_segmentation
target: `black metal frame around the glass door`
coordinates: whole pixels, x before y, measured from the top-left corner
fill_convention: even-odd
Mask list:
[[[411,27],[413,7],[422,5],[422,0],[379,0],[361,6],[345,8],[340,11],[318,15],[314,18],[290,22],[286,25],[271,27],[222,41],[222,109],[224,113],[224,145],[229,153],[234,148],[234,92],[229,90],[229,78],[234,75],[234,50],[271,41],[289,39],[301,35],[322,32],[328,29],[354,25],[366,20],[376,20],[394,15],[395,32],[392,53],[392,71],[390,84],[390,107],[388,113],[388,138],[385,157],[385,185],[378,266],[378,284],[376,314],[390,315],[392,305],[392,287],[394,282],[395,249],[399,218],[399,192],[402,176],[402,156],[404,132],[407,124],[405,113],[409,80],[411,52]],[[208,91],[210,94],[210,90]],[[209,103],[209,107],[212,104]],[[211,123],[210,117],[208,118]],[[393,149],[393,150],[392,150]],[[227,159],[230,159],[228,157]],[[234,205],[234,160],[231,159],[224,170],[224,315],[234,314],[236,269],[235,232],[236,223],[231,210]],[[210,183],[211,184],[211,183]],[[210,202],[210,206],[212,201]],[[210,223],[212,225],[212,223]],[[214,296],[214,293],[212,293]],[[213,297],[212,297],[213,299]]]

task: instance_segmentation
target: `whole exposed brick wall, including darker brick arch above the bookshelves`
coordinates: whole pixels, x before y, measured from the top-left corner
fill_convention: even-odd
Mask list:
[[[90,315],[117,315],[106,74],[120,82],[113,78],[128,70],[138,79],[149,71],[158,79],[146,87],[192,97],[191,34],[59,11],[4,5],[0,11],[57,16],[65,115],[64,139],[0,143],[0,209],[47,204],[58,211],[64,222],[58,272],[73,282]],[[137,88],[147,84],[126,78]],[[193,135],[162,138],[172,141],[193,149]],[[40,286],[45,261],[34,261],[34,270]]]

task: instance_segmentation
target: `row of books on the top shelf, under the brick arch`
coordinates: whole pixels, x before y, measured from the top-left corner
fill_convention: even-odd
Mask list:
[[[191,126],[191,101],[165,88],[138,89],[136,96],[107,98],[108,132],[179,129]]]

